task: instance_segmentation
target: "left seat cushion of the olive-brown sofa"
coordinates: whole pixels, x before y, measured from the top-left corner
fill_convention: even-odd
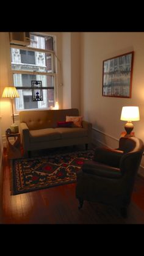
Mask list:
[[[46,128],[29,131],[30,142],[54,141],[62,139],[62,136],[54,128]]]

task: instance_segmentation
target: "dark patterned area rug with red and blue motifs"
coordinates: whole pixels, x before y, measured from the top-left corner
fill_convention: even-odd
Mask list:
[[[31,192],[76,182],[85,161],[93,158],[93,150],[14,159],[11,194]]]

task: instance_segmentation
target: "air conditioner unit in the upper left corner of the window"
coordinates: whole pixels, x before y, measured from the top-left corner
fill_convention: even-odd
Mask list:
[[[29,32],[10,32],[10,44],[14,45],[30,45]]]

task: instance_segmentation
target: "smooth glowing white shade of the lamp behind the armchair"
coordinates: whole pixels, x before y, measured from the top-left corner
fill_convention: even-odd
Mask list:
[[[121,111],[121,118],[123,121],[139,121],[139,107],[123,107]]]

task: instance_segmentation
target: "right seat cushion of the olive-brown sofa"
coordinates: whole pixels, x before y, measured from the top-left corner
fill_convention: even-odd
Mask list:
[[[84,128],[55,128],[60,133],[62,139],[88,136],[88,131]]]

